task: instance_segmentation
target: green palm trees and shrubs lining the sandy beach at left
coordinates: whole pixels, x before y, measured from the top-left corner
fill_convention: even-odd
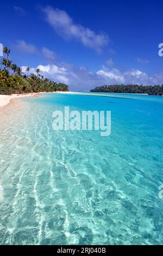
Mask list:
[[[40,69],[35,70],[36,75],[23,74],[22,69],[9,60],[10,50],[4,47],[3,52],[7,58],[1,61],[4,67],[0,68],[0,94],[68,91],[67,85],[43,78]],[[27,67],[27,74],[29,71],[30,68]]]

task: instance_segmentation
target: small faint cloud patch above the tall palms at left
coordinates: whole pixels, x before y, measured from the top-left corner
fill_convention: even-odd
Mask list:
[[[35,53],[35,54],[39,53],[39,51],[33,44],[27,44],[26,41],[24,40],[17,40],[15,48],[21,52]]]

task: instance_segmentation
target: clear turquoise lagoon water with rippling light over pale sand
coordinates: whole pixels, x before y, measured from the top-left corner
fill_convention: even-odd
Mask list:
[[[163,243],[163,97],[41,94],[0,109],[1,245]],[[54,131],[54,110],[110,110],[111,135]]]

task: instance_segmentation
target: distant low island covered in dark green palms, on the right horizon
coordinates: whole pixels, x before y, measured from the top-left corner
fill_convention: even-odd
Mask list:
[[[140,93],[161,96],[163,95],[163,85],[103,85],[95,87],[91,92]]]

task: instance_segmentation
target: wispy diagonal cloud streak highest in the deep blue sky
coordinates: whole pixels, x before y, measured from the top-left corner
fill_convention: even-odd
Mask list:
[[[104,33],[96,34],[90,28],[73,22],[71,17],[64,10],[43,8],[47,22],[64,39],[76,39],[84,46],[101,52],[102,48],[109,43],[108,35]]]

